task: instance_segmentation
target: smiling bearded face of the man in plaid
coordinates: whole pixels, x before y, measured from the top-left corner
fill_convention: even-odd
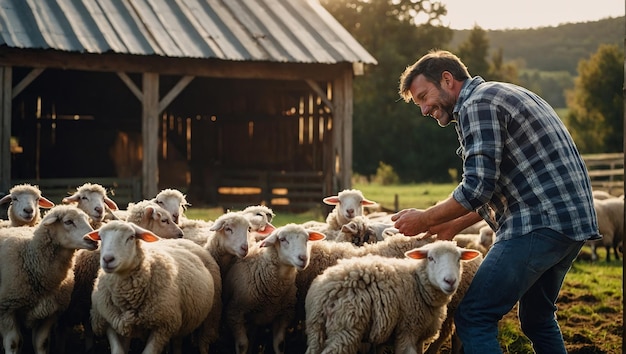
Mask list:
[[[438,88],[424,75],[418,75],[413,79],[409,90],[413,96],[413,102],[422,110],[422,115],[435,118],[442,127],[453,121],[452,110],[456,101],[451,92]]]

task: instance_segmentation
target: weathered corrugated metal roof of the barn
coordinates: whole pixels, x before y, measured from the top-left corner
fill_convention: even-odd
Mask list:
[[[0,45],[95,54],[376,64],[318,0],[0,0]]]

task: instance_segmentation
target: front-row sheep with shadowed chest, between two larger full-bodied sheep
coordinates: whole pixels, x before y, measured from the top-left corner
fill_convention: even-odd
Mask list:
[[[270,323],[274,352],[284,352],[281,344],[296,301],[296,272],[309,265],[307,241],[324,237],[290,223],[274,230],[255,244],[248,256],[232,265],[223,279],[224,298],[228,299],[224,318],[234,336],[238,354],[248,351],[248,330],[252,335],[257,326]]]

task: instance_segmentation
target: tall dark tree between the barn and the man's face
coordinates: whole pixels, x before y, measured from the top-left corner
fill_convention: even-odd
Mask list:
[[[353,171],[371,176],[384,162],[403,182],[449,182],[448,170],[458,168],[460,160],[453,152],[440,154],[436,146],[441,145],[433,142],[454,151],[454,130],[440,129],[417,107],[397,102],[402,71],[451,40],[452,30],[438,26],[445,7],[426,0],[321,2],[378,61],[354,80]]]

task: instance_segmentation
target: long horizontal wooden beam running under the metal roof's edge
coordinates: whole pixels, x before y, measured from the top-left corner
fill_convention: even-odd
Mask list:
[[[99,72],[152,72],[162,75],[231,79],[310,79],[317,81],[332,81],[346,70],[353,70],[352,63],[249,62],[0,47],[0,66],[2,65]]]

